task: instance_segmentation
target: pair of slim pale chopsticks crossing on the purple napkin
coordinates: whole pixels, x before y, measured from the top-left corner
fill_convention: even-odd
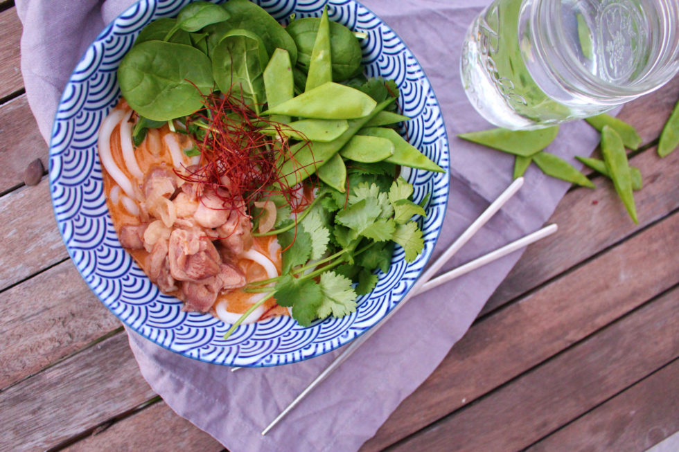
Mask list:
[[[375,332],[380,329],[382,325],[387,323],[387,320],[391,318],[394,314],[396,314],[396,311],[403,307],[412,297],[419,295],[425,291],[428,291],[430,289],[434,289],[434,287],[438,287],[441,284],[444,284],[450,280],[454,280],[455,278],[459,278],[459,276],[464,275],[466,273],[469,273],[470,271],[473,271],[480,266],[484,266],[485,264],[488,264],[490,262],[493,262],[497,259],[500,259],[500,257],[503,257],[504,255],[507,255],[509,253],[512,253],[513,251],[517,251],[520,248],[523,248],[524,246],[528,246],[529,244],[533,242],[537,242],[539,239],[542,239],[543,237],[547,237],[547,235],[551,235],[556,232],[556,224],[550,224],[549,226],[546,226],[545,228],[542,228],[540,230],[536,230],[536,232],[531,233],[529,235],[526,235],[525,237],[522,237],[518,240],[515,240],[514,242],[511,242],[510,244],[507,244],[505,246],[502,246],[502,248],[498,248],[495,251],[491,251],[491,253],[488,253],[486,255],[483,255],[481,257],[478,257],[477,259],[468,262],[467,264],[464,264],[462,266],[457,267],[456,269],[453,269],[451,271],[448,271],[448,273],[443,273],[443,275],[440,275],[436,278],[434,278],[434,275],[438,273],[438,271],[441,269],[441,267],[450,260],[450,258],[459,251],[464,244],[466,244],[471,237],[475,235],[475,233],[478,232],[480,228],[488,222],[489,219],[497,213],[504,204],[506,204],[513,195],[515,195],[516,192],[523,186],[524,179],[522,177],[516,179],[511,183],[511,185],[502,192],[502,195],[497,197],[493,203],[484,210],[484,213],[482,213],[476,220],[473,222],[465,231],[458,237],[455,242],[453,242],[448,249],[438,258],[436,259],[436,262],[431,264],[427,270],[421,275],[421,277],[415,282],[413,285],[412,289],[410,289],[409,293],[407,293],[407,296],[403,298],[403,300],[400,300],[398,302],[398,305],[394,307],[394,309],[391,309],[389,311],[389,314],[385,316],[385,318],[382,318],[380,323],[371,329],[369,329],[367,332],[362,334],[362,336],[358,337],[353,341],[351,344],[349,344],[344,352],[340,354],[340,356],[337,356],[335,361],[330,363],[323,372],[319,374],[318,377],[314,381],[312,381],[309,386],[306,387],[291,403],[288,405],[278,416],[276,416],[276,419],[274,419],[271,424],[269,424],[263,431],[262,435],[266,435],[276,424],[278,424],[283,417],[288,415],[290,411],[299,404],[306,395],[308,395],[309,392],[314,390],[316,386],[318,386],[322,381],[324,381],[330,374],[332,374],[335,369],[340,367],[346,359],[349,358],[356,350],[358,350],[358,347],[360,347],[365,341],[367,341],[370,336],[375,334]],[[232,370],[238,370],[240,368],[233,368]]]

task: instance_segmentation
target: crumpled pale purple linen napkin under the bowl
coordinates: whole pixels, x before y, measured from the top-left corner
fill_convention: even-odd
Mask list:
[[[47,140],[58,100],[87,45],[130,0],[17,0],[24,23],[21,70],[26,94]],[[446,223],[434,258],[511,182],[513,158],[456,138],[491,127],[461,89],[459,57],[468,24],[488,0],[364,0],[411,48],[427,73],[446,120],[452,152]],[[566,124],[549,147],[566,159],[588,154],[598,134]],[[529,168],[524,188],[452,260],[472,260],[543,226],[569,183]],[[229,450],[355,451],[413,392],[466,332],[520,257],[514,253],[419,296],[384,325],[267,436],[260,431],[342,350],[276,368],[200,363],[128,330],[139,368],[179,415]]]

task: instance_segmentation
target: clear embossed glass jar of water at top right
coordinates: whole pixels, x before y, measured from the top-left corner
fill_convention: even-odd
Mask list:
[[[479,114],[509,129],[608,111],[678,71],[677,0],[495,0],[460,63]]]

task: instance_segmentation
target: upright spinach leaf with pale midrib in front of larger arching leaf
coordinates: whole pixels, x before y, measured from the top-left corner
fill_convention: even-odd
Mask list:
[[[212,52],[212,73],[220,91],[242,94],[259,114],[266,102],[264,69],[269,61],[264,43],[248,30],[231,30]]]

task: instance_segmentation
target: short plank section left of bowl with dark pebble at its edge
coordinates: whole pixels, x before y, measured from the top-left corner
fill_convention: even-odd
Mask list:
[[[0,192],[23,183],[24,170],[35,159],[47,168],[48,148],[25,94],[0,106],[0,143]]]

